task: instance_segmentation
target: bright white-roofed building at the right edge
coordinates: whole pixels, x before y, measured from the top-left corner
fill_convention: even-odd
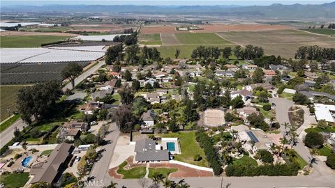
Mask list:
[[[325,120],[329,123],[334,123],[335,105],[331,104],[314,104],[316,120]]]

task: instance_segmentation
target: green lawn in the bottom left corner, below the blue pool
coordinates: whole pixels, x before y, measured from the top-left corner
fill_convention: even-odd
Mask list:
[[[24,187],[29,180],[29,173],[10,173],[0,176],[4,188]]]

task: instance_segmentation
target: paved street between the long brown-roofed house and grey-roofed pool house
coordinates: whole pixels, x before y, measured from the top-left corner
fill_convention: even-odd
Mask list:
[[[110,160],[112,159],[114,148],[117,145],[117,139],[119,138],[120,134],[120,131],[115,123],[112,123],[110,125],[109,131],[110,133],[105,136],[105,140],[110,142],[107,143],[105,146],[101,147],[102,150],[105,149],[105,152],[103,152],[103,156],[101,157],[101,159],[94,164],[93,169],[89,174],[90,177],[94,177],[94,180],[104,180],[105,176],[108,175],[107,171],[108,167],[110,166]]]

